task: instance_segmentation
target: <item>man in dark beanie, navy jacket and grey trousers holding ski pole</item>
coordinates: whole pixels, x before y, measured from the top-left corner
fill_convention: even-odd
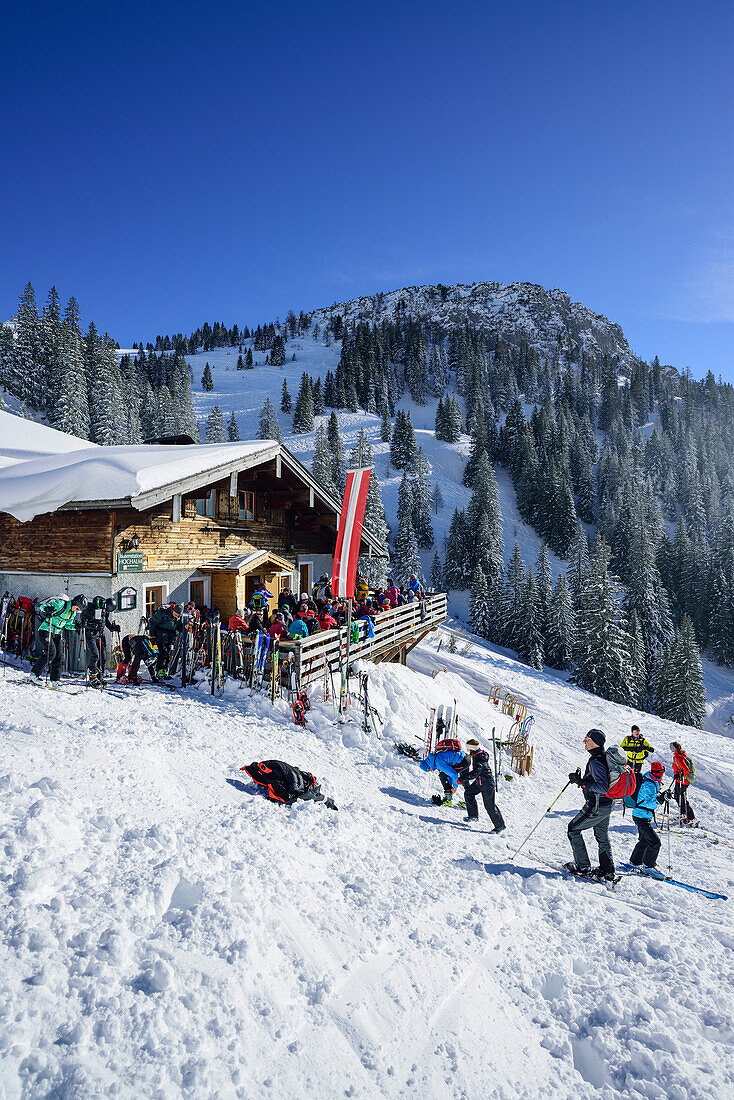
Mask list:
[[[606,737],[601,729],[590,729],[583,739],[589,754],[587,770],[583,776],[578,769],[568,777],[570,783],[577,783],[584,793],[583,809],[571,821],[568,827],[568,838],[571,842],[573,862],[563,864],[567,871],[573,875],[593,875],[600,879],[614,879],[614,858],[610,843],[609,824],[612,816],[613,800],[606,796],[610,787],[610,774],[606,767],[604,744]],[[594,831],[599,845],[599,868],[591,870],[589,853],[583,840],[587,829]]]

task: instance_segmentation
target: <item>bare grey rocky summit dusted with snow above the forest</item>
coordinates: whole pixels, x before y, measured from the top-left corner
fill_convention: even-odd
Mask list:
[[[409,286],[317,309],[311,323],[324,326],[336,315],[375,323],[409,317],[446,331],[471,323],[508,343],[526,340],[547,356],[581,349],[584,355],[611,355],[620,366],[636,359],[620,324],[571,301],[565,290],[533,283]]]

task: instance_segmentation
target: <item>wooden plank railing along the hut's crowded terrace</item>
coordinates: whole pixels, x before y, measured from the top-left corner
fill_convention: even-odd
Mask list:
[[[354,619],[359,641],[352,641],[350,661],[386,661],[407,653],[430,630],[446,622],[446,593],[427,596],[417,603],[381,612],[374,619],[374,638],[365,638],[365,622]],[[324,630],[304,638],[295,646],[298,684],[305,688],[325,679],[326,670],[336,672],[346,660],[347,627]]]

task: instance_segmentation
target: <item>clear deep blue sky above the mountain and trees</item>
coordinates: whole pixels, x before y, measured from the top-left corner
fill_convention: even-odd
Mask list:
[[[734,381],[730,4],[14,6],[0,312],[121,343],[418,283],[562,287]]]

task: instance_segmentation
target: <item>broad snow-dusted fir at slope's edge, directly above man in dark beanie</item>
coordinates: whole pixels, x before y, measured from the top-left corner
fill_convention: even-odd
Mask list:
[[[609,546],[598,538],[576,616],[571,679],[602,698],[629,704],[635,695],[632,639],[622,625],[610,558]]]

